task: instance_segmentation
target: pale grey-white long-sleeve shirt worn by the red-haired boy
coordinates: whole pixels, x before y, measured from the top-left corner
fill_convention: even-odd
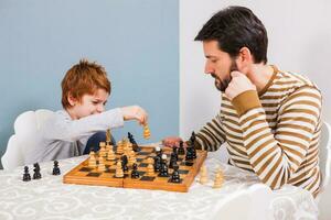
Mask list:
[[[79,156],[90,135],[124,125],[119,108],[72,120],[65,110],[54,113],[36,136],[34,146],[26,146],[25,164]]]

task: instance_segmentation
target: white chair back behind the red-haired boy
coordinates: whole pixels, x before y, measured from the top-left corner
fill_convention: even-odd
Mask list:
[[[7,150],[1,157],[3,169],[14,169],[24,165],[24,155],[29,147],[36,144],[36,135],[43,123],[54,112],[46,109],[25,111],[14,121],[14,134],[10,136]]]

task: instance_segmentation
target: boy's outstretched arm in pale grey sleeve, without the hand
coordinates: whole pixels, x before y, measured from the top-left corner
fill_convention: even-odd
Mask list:
[[[124,116],[120,108],[111,109],[98,114],[88,116],[78,120],[72,120],[64,112],[47,122],[43,130],[43,136],[50,140],[77,141],[90,136],[98,131],[124,125]]]

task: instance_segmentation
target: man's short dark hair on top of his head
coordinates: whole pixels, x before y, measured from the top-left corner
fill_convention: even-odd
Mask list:
[[[214,14],[194,41],[217,41],[220,50],[236,57],[249,48],[255,63],[267,63],[268,36],[261,21],[245,7],[228,7]]]

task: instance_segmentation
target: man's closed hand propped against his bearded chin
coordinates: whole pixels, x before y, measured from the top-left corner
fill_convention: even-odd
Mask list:
[[[241,72],[232,72],[231,76],[232,80],[225,89],[225,95],[229,100],[244,91],[256,90],[256,86]]]

